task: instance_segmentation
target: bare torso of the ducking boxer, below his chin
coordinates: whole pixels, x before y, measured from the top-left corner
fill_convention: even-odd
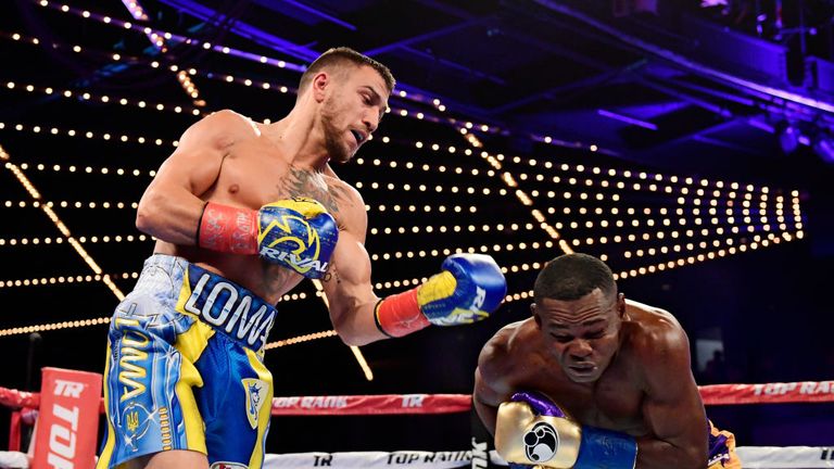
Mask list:
[[[503,378],[502,383],[492,384],[506,394],[501,401],[507,401],[518,391],[540,391],[582,424],[633,436],[649,433],[642,409],[643,367],[635,347],[646,346],[650,342],[650,329],[668,324],[670,316],[644,306],[627,307],[629,319],[622,325],[621,347],[593,383],[576,383],[565,376],[559,363],[546,350],[532,318],[505,327],[493,339],[493,359],[503,370]]]

